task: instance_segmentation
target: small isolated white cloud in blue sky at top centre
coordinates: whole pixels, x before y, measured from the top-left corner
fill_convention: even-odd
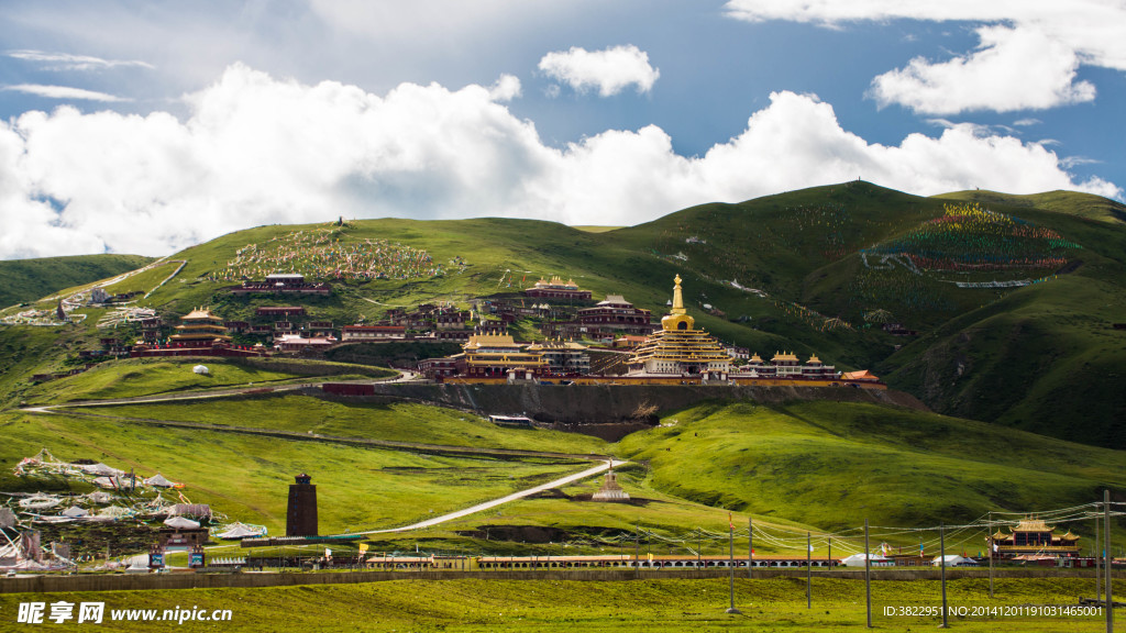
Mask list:
[[[580,92],[597,88],[601,97],[617,95],[629,86],[637,92],[649,92],[661,77],[661,71],[650,65],[649,53],[632,44],[601,51],[578,46],[555,51],[539,60],[539,70]]]

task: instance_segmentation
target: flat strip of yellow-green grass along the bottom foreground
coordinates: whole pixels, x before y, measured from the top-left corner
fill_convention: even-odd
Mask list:
[[[1116,581],[1120,595],[1126,582]],[[954,607],[1075,605],[1093,594],[1090,580],[998,579],[995,598],[988,581],[953,580]],[[873,625],[878,631],[930,630],[935,616],[884,615],[885,608],[941,605],[938,581],[877,581],[872,589]],[[182,631],[379,631],[379,632],[606,632],[634,631],[867,631],[864,582],[815,578],[806,607],[798,578],[735,581],[729,615],[727,580],[631,580],[617,582],[516,580],[395,580],[364,585],[298,586],[265,589],[189,589],[2,595],[0,622],[12,623],[21,601],[104,601],[104,631],[151,631],[153,623],[110,622],[113,609],[230,609],[230,622],[185,622]],[[48,609],[50,613],[50,609]],[[1116,613],[1116,619],[1121,617]],[[1105,616],[1102,616],[1105,617]],[[951,627],[967,632],[1055,633],[1102,631],[1099,616],[953,616]],[[159,626],[168,627],[168,623]]]

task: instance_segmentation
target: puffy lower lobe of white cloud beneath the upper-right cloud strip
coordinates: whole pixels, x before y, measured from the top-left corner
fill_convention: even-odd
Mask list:
[[[969,56],[931,63],[911,60],[881,74],[870,95],[881,106],[900,104],[922,114],[990,109],[1045,109],[1094,99],[1094,86],[1075,81],[1079,57],[1038,29],[985,26]]]

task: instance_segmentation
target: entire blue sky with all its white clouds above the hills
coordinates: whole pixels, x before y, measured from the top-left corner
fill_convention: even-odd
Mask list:
[[[1123,199],[1124,80],[1121,1],[8,0],[0,258],[857,177]]]

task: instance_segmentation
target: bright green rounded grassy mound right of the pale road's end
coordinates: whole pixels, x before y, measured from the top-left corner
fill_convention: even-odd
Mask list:
[[[1069,507],[1126,484],[1119,451],[867,404],[715,404],[662,421],[619,448],[650,462],[658,490],[823,528]]]

